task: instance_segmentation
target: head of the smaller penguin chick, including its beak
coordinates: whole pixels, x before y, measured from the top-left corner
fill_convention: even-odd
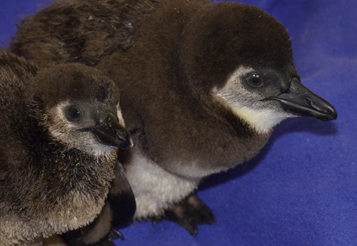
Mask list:
[[[119,90],[95,68],[69,63],[47,68],[26,91],[31,115],[51,140],[91,155],[131,148]]]

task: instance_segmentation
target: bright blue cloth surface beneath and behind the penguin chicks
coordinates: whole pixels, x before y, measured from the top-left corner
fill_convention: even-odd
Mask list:
[[[338,120],[283,121],[256,158],[208,178],[198,196],[217,222],[196,237],[172,222],[135,222],[117,245],[357,245],[357,1],[243,2],[286,26],[303,83]],[[23,16],[46,4],[1,0],[1,48]]]

